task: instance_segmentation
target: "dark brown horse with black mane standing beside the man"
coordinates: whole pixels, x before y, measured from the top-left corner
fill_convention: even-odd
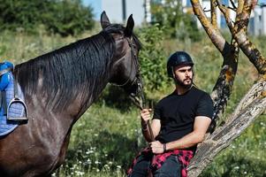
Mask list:
[[[108,83],[134,96],[142,90],[141,42],[126,27],[101,15],[102,31],[16,65],[27,124],[0,138],[0,176],[50,176],[63,164],[72,126]]]

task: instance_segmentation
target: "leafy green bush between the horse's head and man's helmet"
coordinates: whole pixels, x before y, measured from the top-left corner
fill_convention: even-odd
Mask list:
[[[166,74],[166,53],[163,50],[163,30],[158,25],[143,27],[138,33],[141,49],[141,75],[146,91],[160,90],[169,83]]]

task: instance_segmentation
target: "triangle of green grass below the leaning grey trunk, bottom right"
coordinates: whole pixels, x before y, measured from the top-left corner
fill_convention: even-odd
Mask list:
[[[240,138],[217,156],[201,176],[253,176],[266,175],[266,116],[260,116]]]

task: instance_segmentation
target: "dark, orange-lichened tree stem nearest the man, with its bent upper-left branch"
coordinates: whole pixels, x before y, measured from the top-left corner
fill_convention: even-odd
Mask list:
[[[238,66],[239,47],[234,41],[231,43],[226,42],[218,29],[215,29],[215,27],[209,23],[209,20],[202,11],[199,1],[192,0],[191,3],[193,5],[195,15],[201,21],[202,27],[204,27],[211,42],[214,43],[224,58],[222,70],[211,94],[214,101],[215,114],[211,126],[209,127],[209,132],[213,132],[218,124],[221,114],[224,112],[224,107],[227,104],[229,96],[232,93],[232,84]]]

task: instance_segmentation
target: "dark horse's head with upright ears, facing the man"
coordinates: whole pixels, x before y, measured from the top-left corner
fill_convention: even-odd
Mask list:
[[[142,90],[139,65],[141,42],[133,35],[134,21],[132,15],[127,19],[126,27],[110,24],[105,12],[101,16],[103,31],[110,33],[115,41],[115,53],[110,68],[110,83],[136,95]]]

